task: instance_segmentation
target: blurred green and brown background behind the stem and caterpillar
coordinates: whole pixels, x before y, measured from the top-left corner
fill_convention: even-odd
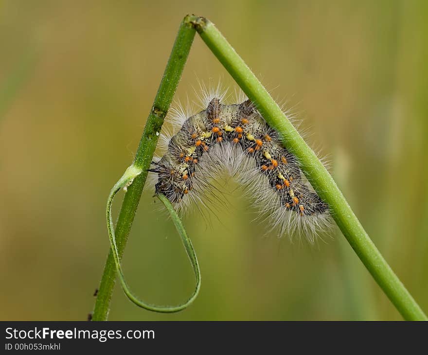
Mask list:
[[[179,22],[211,19],[309,128],[376,246],[428,311],[427,1],[0,1],[0,319],[86,320],[108,251],[107,194],[131,163]],[[176,98],[233,81],[196,35]],[[399,320],[334,230],[266,235],[233,181],[228,209],[184,223],[202,271],[177,314],[111,320]],[[174,227],[144,192],[123,266],[174,304],[194,287]],[[117,213],[119,197],[115,203]]]

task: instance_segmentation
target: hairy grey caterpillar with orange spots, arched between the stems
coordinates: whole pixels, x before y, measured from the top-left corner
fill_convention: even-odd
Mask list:
[[[313,243],[331,217],[297,158],[250,100],[227,105],[222,103],[224,95],[211,96],[199,113],[181,111],[176,134],[163,136],[166,152],[149,169],[157,174],[156,193],[179,211],[192,203],[205,206],[207,195],[221,193],[213,179],[227,173],[267,214],[271,230],[279,227],[280,236],[290,237],[298,232]]]

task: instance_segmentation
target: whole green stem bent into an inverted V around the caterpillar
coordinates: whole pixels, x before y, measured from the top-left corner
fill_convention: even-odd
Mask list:
[[[119,258],[125,247],[127,235],[143,190],[147,175],[146,169],[148,169],[153,157],[157,134],[160,132],[163,119],[177,88],[178,79],[195,35],[195,29],[225,69],[232,75],[236,83],[257,106],[267,123],[282,135],[285,147],[298,158],[302,164],[303,172],[312,186],[321,198],[329,204],[332,216],[339,229],[404,319],[427,320],[427,316],[375,247],[333,177],[331,177],[312,149],[304,142],[298,131],[250,68],[234,51],[214,24],[206,18],[187,16],[178,31],[155,104],[144,128],[143,137],[134,160],[134,165],[141,168],[142,173],[135,178],[130,186],[119,214],[116,226]],[[174,72],[174,70],[176,71]],[[107,319],[115,272],[114,258],[110,251],[95,304],[93,320]]]

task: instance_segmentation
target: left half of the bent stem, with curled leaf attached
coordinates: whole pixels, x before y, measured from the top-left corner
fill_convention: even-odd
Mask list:
[[[128,234],[137,211],[138,203],[143,192],[145,179],[147,177],[147,169],[150,166],[150,162],[155,152],[160,128],[163,124],[166,113],[168,112],[169,106],[171,105],[181,73],[190,52],[190,47],[192,46],[193,39],[195,37],[195,28],[192,26],[188,18],[189,17],[186,17],[183,20],[178,29],[178,34],[169,57],[168,64],[166,65],[160,82],[153,107],[147,118],[143,136],[134,159],[133,165],[137,168],[141,168],[142,173],[136,177],[132,185],[129,186],[117,219],[115,233],[119,258],[122,257]],[[92,320],[107,320],[115,280],[116,266],[114,263],[113,253],[110,248],[99,286]]]

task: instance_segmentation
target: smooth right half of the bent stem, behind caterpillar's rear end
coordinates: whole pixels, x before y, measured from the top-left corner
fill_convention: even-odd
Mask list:
[[[357,216],[324,165],[304,142],[296,128],[250,68],[213,23],[205,18],[194,19],[193,23],[203,41],[229,71],[248,98],[256,104],[267,123],[283,136],[285,147],[298,158],[312,186],[329,204],[333,218],[343,235],[404,319],[427,320],[427,316],[364,231]]]

